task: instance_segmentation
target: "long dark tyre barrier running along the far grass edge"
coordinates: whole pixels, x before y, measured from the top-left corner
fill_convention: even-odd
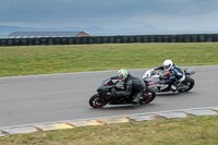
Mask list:
[[[1,38],[0,46],[87,45],[129,43],[215,43],[218,34],[132,35],[89,37]]]

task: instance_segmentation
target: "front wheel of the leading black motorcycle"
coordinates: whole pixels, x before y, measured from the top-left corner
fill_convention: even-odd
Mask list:
[[[89,98],[89,105],[93,108],[101,108],[101,107],[106,106],[107,104],[108,104],[108,101],[106,100],[106,98],[101,97],[97,94],[93,95]]]

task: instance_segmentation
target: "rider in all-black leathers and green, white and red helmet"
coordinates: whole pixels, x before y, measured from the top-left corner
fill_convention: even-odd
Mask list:
[[[122,96],[130,96],[132,93],[134,93],[134,99],[132,102],[135,105],[140,104],[140,97],[143,96],[143,94],[146,90],[144,81],[133,74],[130,74],[124,69],[118,71],[117,77],[120,82],[123,83],[124,89],[117,90],[113,93],[113,95],[122,97]]]

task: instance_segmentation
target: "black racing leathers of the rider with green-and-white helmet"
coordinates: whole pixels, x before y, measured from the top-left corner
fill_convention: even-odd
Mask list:
[[[128,74],[126,80],[123,81],[123,86],[124,89],[117,90],[114,95],[117,97],[122,97],[122,96],[130,96],[133,93],[134,94],[133,104],[138,104],[140,97],[143,96],[143,94],[146,90],[144,81],[130,73]]]

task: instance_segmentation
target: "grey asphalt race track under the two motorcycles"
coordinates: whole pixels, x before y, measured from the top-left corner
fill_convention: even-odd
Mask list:
[[[191,67],[194,88],[183,94],[158,94],[149,105],[93,109],[89,97],[117,71],[32,75],[0,78],[0,126],[122,116],[218,105],[218,65]],[[146,69],[129,70],[141,76]]]

